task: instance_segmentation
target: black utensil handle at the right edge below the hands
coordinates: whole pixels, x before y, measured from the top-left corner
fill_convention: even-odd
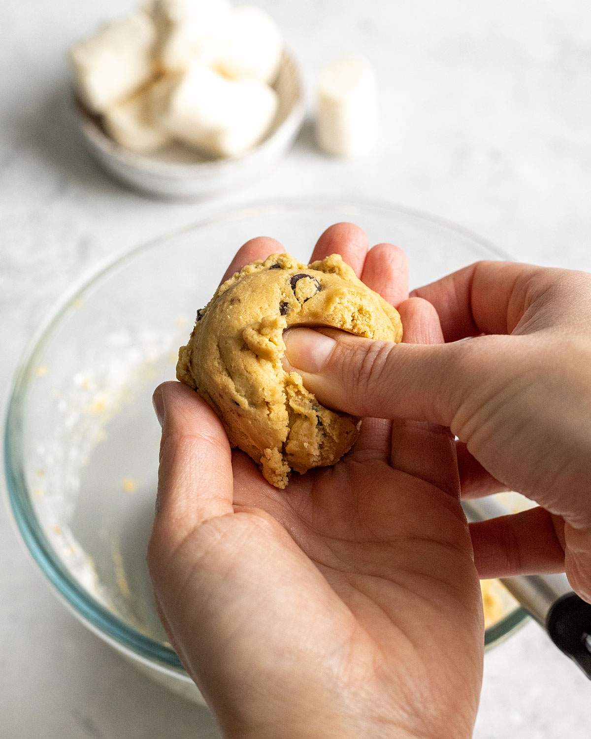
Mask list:
[[[591,603],[567,593],[548,611],[546,628],[559,650],[591,680]]]

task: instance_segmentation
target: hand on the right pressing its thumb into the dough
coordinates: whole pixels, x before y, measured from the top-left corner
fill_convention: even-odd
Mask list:
[[[471,524],[481,577],[566,569],[591,601],[591,275],[478,262],[413,294],[434,305],[447,344],[300,329],[290,364],[336,409],[448,426],[462,496],[539,503]]]

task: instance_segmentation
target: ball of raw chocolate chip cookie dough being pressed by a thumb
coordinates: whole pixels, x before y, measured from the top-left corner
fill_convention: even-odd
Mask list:
[[[232,446],[284,488],[290,469],[331,465],[351,449],[360,423],[321,406],[296,372],[281,365],[289,326],[335,327],[399,342],[397,310],[363,285],[341,256],[301,265],[289,254],[253,262],[197,311],[180,347],[177,378],[222,419]]]

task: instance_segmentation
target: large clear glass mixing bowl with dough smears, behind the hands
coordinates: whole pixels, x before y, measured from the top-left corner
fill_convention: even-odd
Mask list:
[[[476,259],[504,258],[474,234],[374,202],[290,200],[217,214],[134,248],[72,290],[30,343],[10,392],[4,437],[16,525],[64,604],[152,678],[200,700],[152,602],[146,544],[160,428],[151,392],[174,378],[197,307],[236,248],[279,239],[304,262],[337,221],[409,255],[411,285]],[[496,644],[526,618],[508,601]]]

